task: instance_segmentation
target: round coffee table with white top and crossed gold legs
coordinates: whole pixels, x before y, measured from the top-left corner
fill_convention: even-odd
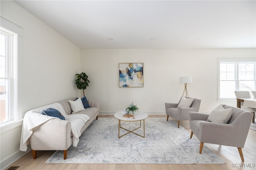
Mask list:
[[[134,113],[134,117],[123,117],[122,111],[121,112],[117,112],[115,113],[114,117],[116,119],[118,119],[118,138],[121,138],[122,136],[129,134],[129,133],[134,133],[134,130],[137,130],[138,128],[141,128],[141,121],[143,121],[143,131],[144,131],[144,135],[140,135],[137,134],[138,136],[141,136],[143,138],[145,138],[145,119],[148,118],[148,114],[144,113],[144,112],[135,112]],[[121,121],[127,121],[127,122],[136,122],[136,121],[140,121],[140,127],[135,128],[133,130],[128,130],[126,128],[121,127]],[[126,134],[123,134],[122,136],[120,136],[120,128],[127,130],[128,132]]]

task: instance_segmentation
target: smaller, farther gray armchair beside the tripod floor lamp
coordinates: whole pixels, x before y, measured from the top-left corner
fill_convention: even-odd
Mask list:
[[[182,98],[180,98],[181,100]],[[192,99],[191,97],[186,97],[186,99]],[[178,107],[180,101],[178,103],[165,103],[165,111],[167,115],[167,121],[169,116],[176,119],[178,121],[178,128],[180,127],[180,121],[189,119],[189,112],[198,112],[200,107],[201,100],[195,99],[193,100],[190,107]]]

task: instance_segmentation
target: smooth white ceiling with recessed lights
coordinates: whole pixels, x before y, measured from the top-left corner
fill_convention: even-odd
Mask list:
[[[15,2],[81,49],[256,47],[255,0]]]

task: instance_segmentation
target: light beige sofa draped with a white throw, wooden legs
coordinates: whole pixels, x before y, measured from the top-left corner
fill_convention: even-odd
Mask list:
[[[26,151],[30,143],[34,159],[37,150],[64,150],[66,159],[67,149],[77,145],[78,137],[94,119],[98,119],[99,114],[98,101],[88,99],[90,107],[73,114],[69,101],[75,101],[75,98],[28,111],[24,116],[20,150]],[[42,115],[42,111],[48,108],[57,109],[66,120]]]

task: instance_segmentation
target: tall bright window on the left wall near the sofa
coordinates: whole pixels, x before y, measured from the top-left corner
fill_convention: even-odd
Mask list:
[[[0,124],[16,120],[17,34],[0,27]]]

